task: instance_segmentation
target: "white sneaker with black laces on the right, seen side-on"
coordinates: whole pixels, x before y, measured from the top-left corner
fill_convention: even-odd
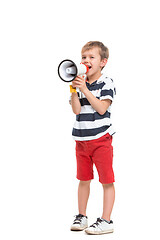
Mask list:
[[[97,221],[85,230],[88,234],[104,234],[113,232],[113,221],[97,218]]]

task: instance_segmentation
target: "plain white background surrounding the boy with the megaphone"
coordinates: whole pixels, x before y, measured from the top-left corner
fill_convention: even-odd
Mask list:
[[[114,79],[115,232],[108,239],[159,239],[159,1],[1,1],[0,239],[88,239],[70,232],[77,210],[75,116],[61,60],[102,41]],[[89,224],[102,212],[91,184]],[[95,236],[92,236],[95,238]]]

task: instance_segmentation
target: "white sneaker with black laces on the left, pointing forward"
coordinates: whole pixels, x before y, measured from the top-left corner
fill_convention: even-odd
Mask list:
[[[72,231],[82,231],[88,227],[88,218],[82,214],[75,216],[73,224],[71,225]]]

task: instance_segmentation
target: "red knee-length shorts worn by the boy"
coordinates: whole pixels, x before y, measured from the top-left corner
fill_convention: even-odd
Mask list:
[[[90,141],[76,141],[77,178],[89,181],[94,178],[93,164],[95,164],[99,181],[102,184],[113,183],[113,147],[112,136],[108,133],[98,139]]]

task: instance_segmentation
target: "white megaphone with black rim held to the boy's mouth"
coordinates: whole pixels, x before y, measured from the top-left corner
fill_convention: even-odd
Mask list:
[[[77,76],[87,73],[89,67],[84,63],[75,64],[72,60],[63,60],[58,66],[58,75],[64,82],[71,82]]]

